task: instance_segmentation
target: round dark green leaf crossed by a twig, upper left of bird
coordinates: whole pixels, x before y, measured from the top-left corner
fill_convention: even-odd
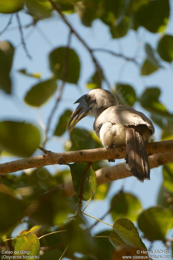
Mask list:
[[[67,50],[66,47],[54,49],[49,54],[49,66],[57,79],[77,84],[80,74],[80,60],[73,49]],[[67,75],[64,79],[65,69],[67,69]]]

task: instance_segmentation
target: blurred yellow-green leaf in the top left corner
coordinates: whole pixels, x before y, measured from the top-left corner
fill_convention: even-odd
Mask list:
[[[16,13],[23,8],[24,0],[1,0],[0,13]]]

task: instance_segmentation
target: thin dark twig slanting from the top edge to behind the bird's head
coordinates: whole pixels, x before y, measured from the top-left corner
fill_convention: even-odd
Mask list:
[[[65,24],[67,24],[67,26],[70,28],[71,32],[74,33],[74,35],[76,35],[77,39],[85,46],[85,48],[89,51],[91,58],[96,66],[96,72],[98,72],[97,74],[99,74],[102,79],[106,82],[108,88],[110,89],[110,83],[107,80],[106,76],[103,73],[103,69],[101,68],[99,62],[97,61],[97,59],[95,58],[92,49],[88,46],[88,44],[81,38],[81,36],[75,31],[75,29],[72,27],[72,25],[69,23],[69,21],[66,19],[66,17],[61,13],[59,7],[56,5],[55,2],[53,2],[52,0],[49,0],[49,2],[51,2],[53,8],[59,13],[60,17],[63,19],[63,21],[65,22]]]

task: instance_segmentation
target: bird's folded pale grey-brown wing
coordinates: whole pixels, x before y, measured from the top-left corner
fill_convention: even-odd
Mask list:
[[[111,106],[104,110],[95,120],[93,125],[94,130],[99,132],[99,129],[106,122],[123,124],[125,126],[138,126],[144,124],[150,129],[152,134],[154,133],[154,126],[150,119],[148,119],[142,112],[138,112],[129,106]]]

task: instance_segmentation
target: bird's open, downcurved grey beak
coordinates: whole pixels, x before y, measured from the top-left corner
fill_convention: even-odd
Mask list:
[[[80,98],[78,98],[76,100],[76,102],[74,102],[74,104],[79,103],[79,105],[77,106],[77,108],[75,108],[75,110],[73,111],[73,113],[71,114],[71,117],[68,121],[67,124],[67,128],[69,127],[71,121],[74,119],[74,117],[76,117],[74,119],[73,124],[70,127],[70,131],[69,134],[71,133],[71,131],[73,130],[74,126],[84,117],[86,117],[88,115],[88,111],[90,110],[90,108],[87,105],[86,102],[86,95],[81,96]],[[67,129],[66,128],[66,129]]]

